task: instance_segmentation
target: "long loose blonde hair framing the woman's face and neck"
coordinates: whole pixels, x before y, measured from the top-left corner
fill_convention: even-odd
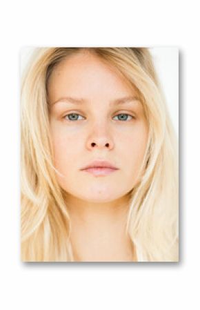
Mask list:
[[[21,259],[73,262],[70,216],[52,158],[47,83],[62,59],[88,50],[138,90],[149,136],[130,192],[126,233],[139,262],[179,260],[178,149],[148,48],[37,48],[21,84]]]

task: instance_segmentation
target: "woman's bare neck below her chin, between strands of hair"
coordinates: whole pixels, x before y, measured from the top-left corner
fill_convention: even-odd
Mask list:
[[[72,196],[66,201],[75,261],[132,261],[132,242],[126,234],[128,196],[104,203]]]

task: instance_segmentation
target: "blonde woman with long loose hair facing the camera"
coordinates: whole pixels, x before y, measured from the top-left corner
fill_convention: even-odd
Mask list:
[[[38,48],[21,89],[21,258],[177,262],[177,141],[148,48]]]

